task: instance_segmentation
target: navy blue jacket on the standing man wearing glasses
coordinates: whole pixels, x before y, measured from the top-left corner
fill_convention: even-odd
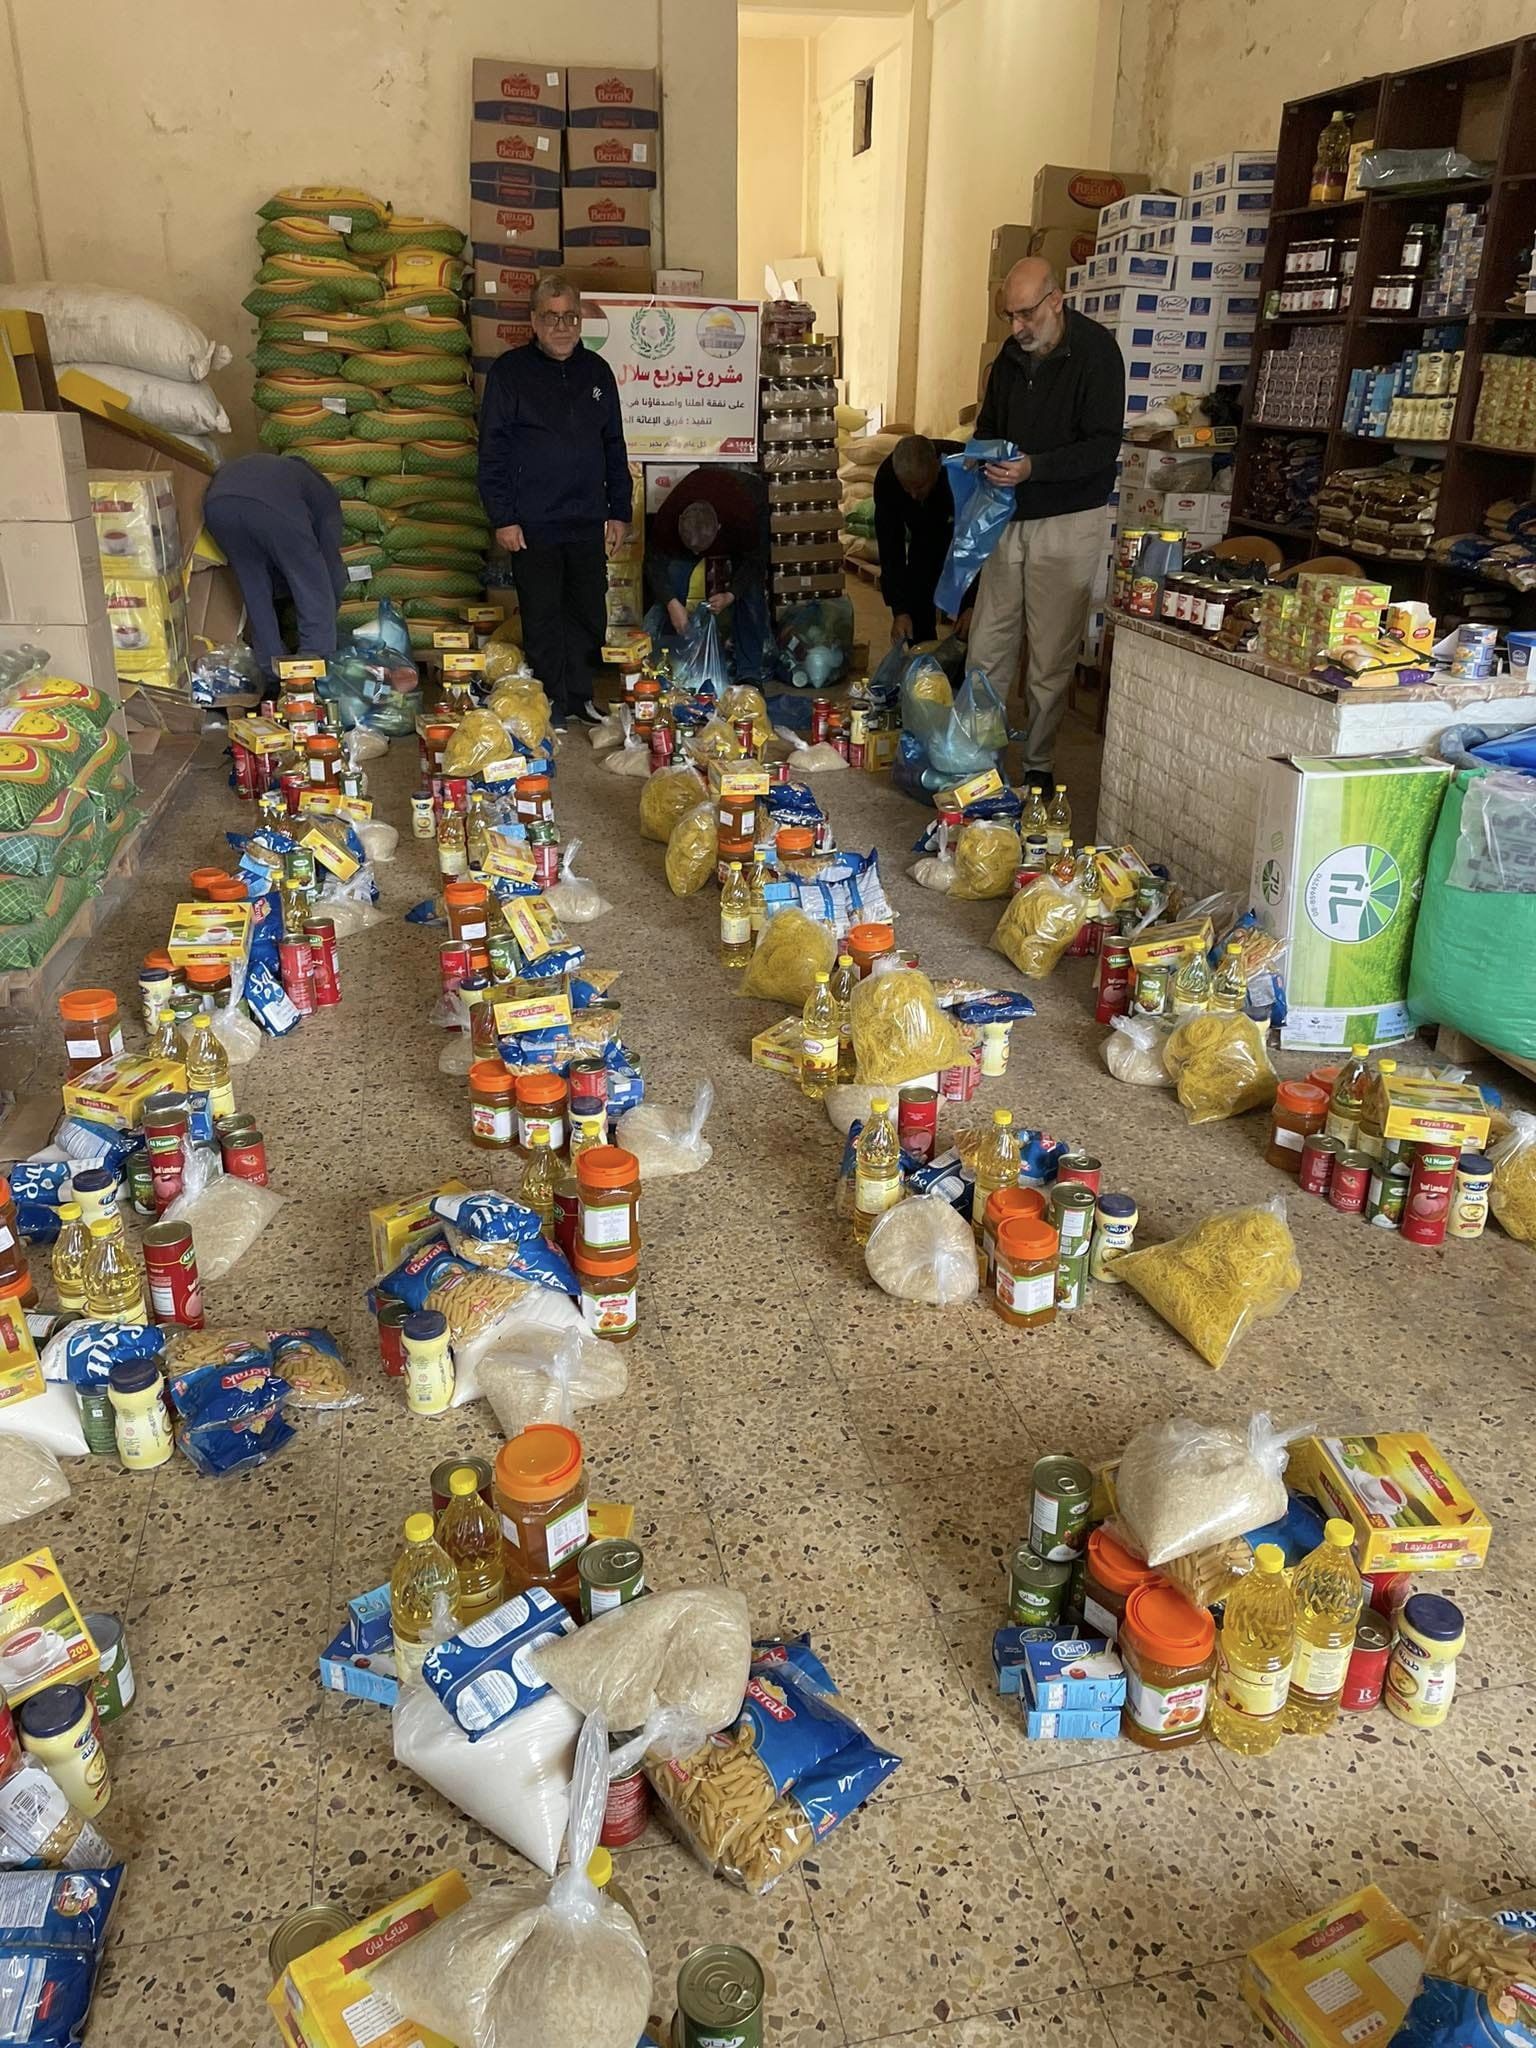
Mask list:
[[[479,408],[479,496],[492,526],[528,541],[578,541],[631,514],[618,385],[580,346],[565,362],[539,342],[492,362]]]

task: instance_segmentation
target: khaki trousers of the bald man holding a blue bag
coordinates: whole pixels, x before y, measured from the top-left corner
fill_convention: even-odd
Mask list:
[[[1104,549],[1102,506],[1057,512],[1053,518],[1016,518],[981,571],[967,666],[985,670],[997,696],[1008,702],[1018,676],[1020,641],[1028,635],[1026,774],[1051,768]]]

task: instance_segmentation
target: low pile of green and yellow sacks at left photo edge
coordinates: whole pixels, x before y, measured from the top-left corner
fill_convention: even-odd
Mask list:
[[[133,829],[133,760],[88,682],[0,688],[0,971],[39,967]]]

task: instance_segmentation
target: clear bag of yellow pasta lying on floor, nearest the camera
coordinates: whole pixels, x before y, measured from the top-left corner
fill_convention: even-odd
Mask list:
[[[1124,1251],[1114,1278],[1135,1288],[1208,1366],[1225,1366],[1249,1323],[1278,1315],[1300,1286],[1284,1198],[1217,1208],[1165,1245]]]

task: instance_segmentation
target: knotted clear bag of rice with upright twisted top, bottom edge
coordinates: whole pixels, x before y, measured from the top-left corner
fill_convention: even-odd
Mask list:
[[[487,1741],[496,1737],[477,1751]],[[651,2007],[651,1964],[635,1921],[586,1874],[608,1772],[608,1726],[594,1714],[575,1751],[567,1868],[547,1892],[532,1884],[479,1892],[373,1964],[375,1991],[459,2048],[635,2048]]]

